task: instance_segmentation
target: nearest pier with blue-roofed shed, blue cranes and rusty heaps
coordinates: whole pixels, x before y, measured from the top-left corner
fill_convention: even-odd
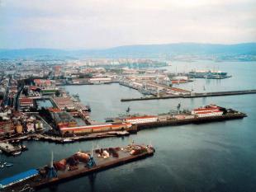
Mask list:
[[[154,155],[150,145],[131,143],[125,148],[97,148],[91,152],[76,152],[58,162],[52,160],[49,166],[31,169],[15,176],[0,180],[0,191],[33,191],[45,186],[85,176],[114,166]]]

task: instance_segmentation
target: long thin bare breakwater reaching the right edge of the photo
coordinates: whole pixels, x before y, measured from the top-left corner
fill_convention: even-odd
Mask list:
[[[244,91],[217,91],[217,92],[205,92],[205,93],[191,93],[191,94],[180,94],[180,95],[169,95],[169,96],[149,96],[140,98],[127,98],[121,99],[122,102],[125,101],[144,101],[144,100],[163,100],[163,99],[175,99],[175,98],[196,98],[196,97],[206,97],[206,96],[235,96],[235,95],[245,95],[245,94],[256,94],[256,90],[244,90]]]

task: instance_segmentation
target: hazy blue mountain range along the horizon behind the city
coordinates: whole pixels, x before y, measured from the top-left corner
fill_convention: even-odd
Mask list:
[[[256,43],[244,44],[139,44],[110,49],[0,49],[0,59],[17,58],[160,58],[256,60]]]

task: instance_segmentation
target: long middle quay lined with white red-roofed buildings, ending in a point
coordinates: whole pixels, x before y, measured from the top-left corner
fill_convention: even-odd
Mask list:
[[[70,134],[66,134],[66,132],[64,132],[64,134],[59,135],[53,135],[49,133],[28,133],[21,136],[16,135],[12,138],[2,138],[2,140],[0,139],[0,142],[18,143],[22,140],[35,140],[64,144],[99,138],[124,137],[130,135],[130,133],[137,133],[140,129],[150,129],[153,127],[172,126],[180,124],[202,124],[230,119],[243,119],[247,116],[242,112],[232,109],[226,109],[217,105],[206,105],[192,111],[183,112],[179,110],[179,107],[180,106],[178,106],[177,113],[169,112],[160,115],[127,115],[119,118],[113,118],[111,119],[111,124],[102,124],[102,126],[100,126],[100,129],[96,131],[93,130],[92,125],[90,125],[88,127],[85,126],[85,128],[82,127],[86,130],[86,132],[70,132]],[[123,127],[125,123],[120,124],[120,122],[126,122],[126,124],[130,124],[130,126],[125,129]],[[3,146],[2,149],[4,151],[6,147]]]

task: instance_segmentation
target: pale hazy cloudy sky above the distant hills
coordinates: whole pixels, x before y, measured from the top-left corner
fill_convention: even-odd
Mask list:
[[[0,48],[252,41],[255,0],[0,0]]]

